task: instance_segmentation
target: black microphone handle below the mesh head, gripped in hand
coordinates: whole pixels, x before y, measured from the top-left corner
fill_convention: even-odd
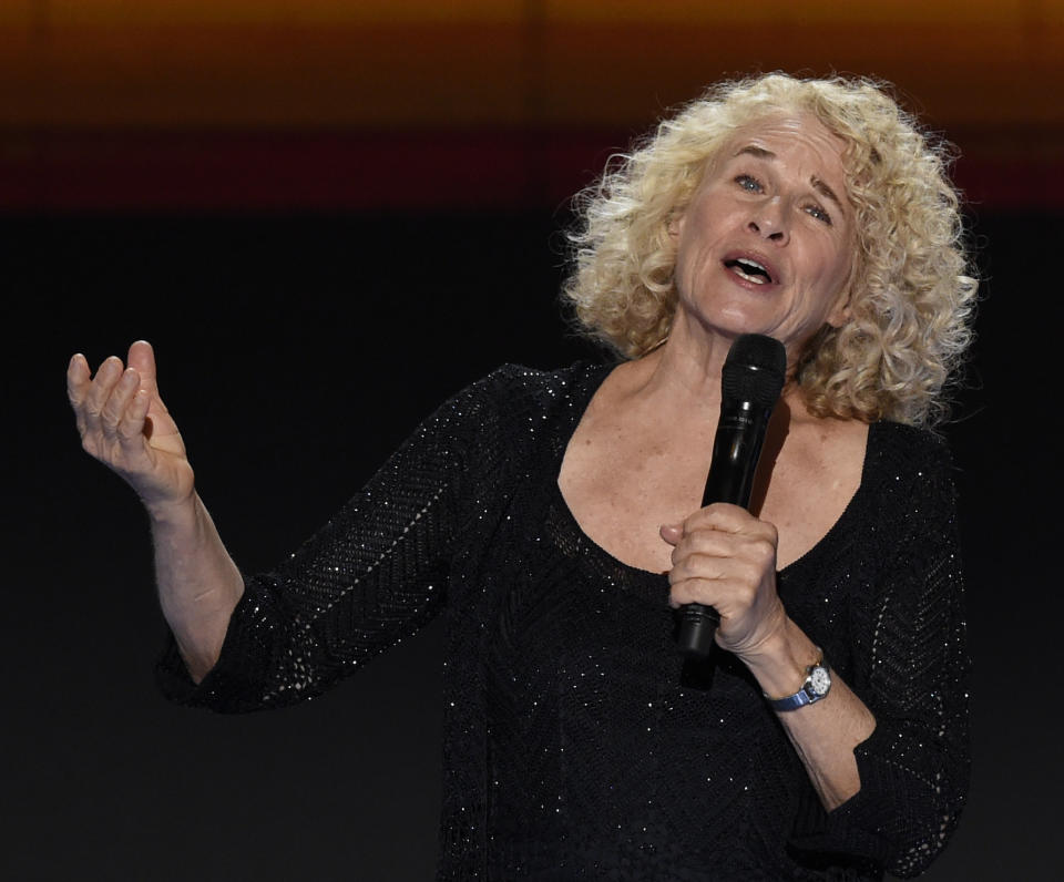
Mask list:
[[[750,506],[754,476],[773,409],[758,409],[749,401],[735,403],[738,407],[726,408],[722,403],[702,507],[714,502],[729,502],[744,509]],[[677,637],[679,652],[688,658],[705,658],[715,645],[719,624],[720,615],[712,606],[698,603],[682,606]]]

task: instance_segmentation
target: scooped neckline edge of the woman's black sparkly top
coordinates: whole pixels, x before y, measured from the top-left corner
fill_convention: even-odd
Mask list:
[[[555,502],[557,503],[561,511],[564,513],[565,520],[569,523],[570,527],[575,531],[575,533],[581,537],[581,540],[586,544],[586,546],[604,562],[611,564],[612,566],[625,572],[632,576],[637,576],[641,578],[651,577],[651,578],[662,578],[667,577],[668,573],[657,572],[654,570],[644,570],[641,566],[634,566],[633,564],[625,563],[620,557],[616,557],[608,551],[606,551],[602,545],[600,545],[595,540],[593,540],[584,529],[581,526],[580,521],[576,520],[576,515],[573,514],[573,510],[569,507],[569,501],[565,499],[565,494],[562,493],[562,488],[559,484],[559,481],[562,475],[562,462],[565,459],[565,452],[569,450],[569,443],[572,441],[573,434],[576,431],[576,427],[580,425],[580,421],[584,418],[584,413],[587,411],[587,407],[591,403],[591,399],[595,397],[595,392],[598,391],[600,387],[605,382],[606,378],[617,368],[618,365],[597,365],[594,366],[597,370],[592,370],[583,379],[581,383],[581,396],[577,400],[579,407],[571,408],[570,413],[571,420],[570,424],[565,427],[565,430],[561,437],[561,442],[559,444],[560,452],[551,462],[551,472],[553,480],[551,481],[552,492],[554,494]],[[853,491],[853,495],[850,496],[849,501],[846,503],[846,507],[842,509],[842,512],[836,519],[835,523],[828,529],[828,531],[814,544],[807,552],[801,554],[791,561],[787,566],[777,570],[777,574],[782,576],[791,572],[801,570],[807,563],[819,554],[827,547],[830,547],[835,544],[837,535],[845,529],[846,523],[853,517],[853,511],[857,509],[860,499],[864,495],[869,479],[870,479],[870,464],[872,462],[872,449],[873,443],[878,442],[879,427],[881,423],[873,422],[869,423],[868,427],[868,439],[864,443],[864,460],[861,463],[861,480],[857,485],[857,490]]]

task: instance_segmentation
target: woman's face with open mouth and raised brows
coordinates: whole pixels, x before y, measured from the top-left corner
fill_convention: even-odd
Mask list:
[[[669,228],[677,309],[693,327],[766,334],[788,355],[847,318],[853,208],[842,141],[808,115],[741,129]]]

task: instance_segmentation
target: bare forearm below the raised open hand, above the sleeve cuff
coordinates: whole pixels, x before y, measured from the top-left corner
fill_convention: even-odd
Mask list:
[[[218,660],[244,581],[198,494],[149,514],[163,616],[198,683]]]

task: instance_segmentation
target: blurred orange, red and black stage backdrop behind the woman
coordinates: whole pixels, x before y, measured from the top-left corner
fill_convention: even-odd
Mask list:
[[[567,196],[706,83],[782,69],[890,80],[961,147],[984,300],[947,434],[975,767],[927,878],[1058,878],[1064,2],[840,7],[0,3],[0,876],[434,864],[439,626],[300,708],[165,704],[146,524],[78,445],[69,356],[155,343],[204,499],[237,561],[268,567],[461,386],[597,357],[555,300]]]

